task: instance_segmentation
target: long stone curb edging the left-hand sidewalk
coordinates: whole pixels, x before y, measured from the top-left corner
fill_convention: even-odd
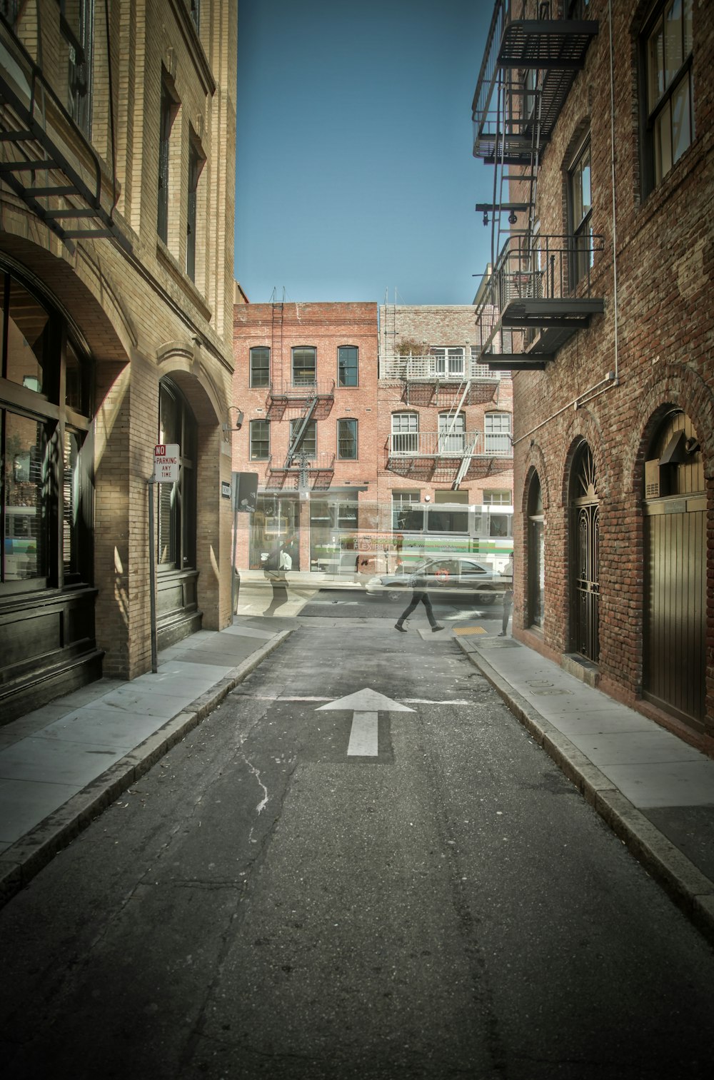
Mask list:
[[[8,848],[0,855],[0,907],[24,889],[58,851],[148,772],[172,746],[198,727],[239,683],[283,644],[294,629],[281,631],[272,640],[256,649],[225,678],[166,720],[153,734]]]

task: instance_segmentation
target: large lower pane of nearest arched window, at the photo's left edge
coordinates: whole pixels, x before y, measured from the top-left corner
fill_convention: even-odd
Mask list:
[[[39,420],[3,413],[4,581],[46,578],[46,434]]]

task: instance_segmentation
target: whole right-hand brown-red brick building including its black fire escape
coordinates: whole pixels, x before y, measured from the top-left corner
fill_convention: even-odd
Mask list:
[[[714,22],[691,0],[544,14],[498,0],[473,100],[514,634],[711,753]]]

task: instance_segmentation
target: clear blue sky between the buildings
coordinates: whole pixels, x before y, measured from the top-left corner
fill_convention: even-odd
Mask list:
[[[254,302],[470,303],[491,0],[239,0],[235,276]],[[473,276],[473,275],[477,276]]]

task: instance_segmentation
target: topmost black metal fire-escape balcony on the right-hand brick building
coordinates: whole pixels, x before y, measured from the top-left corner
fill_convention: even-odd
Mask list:
[[[550,138],[598,29],[593,19],[563,17],[562,6],[496,0],[472,103],[475,158],[529,164],[536,117],[539,144]],[[539,72],[529,87],[524,71]]]

